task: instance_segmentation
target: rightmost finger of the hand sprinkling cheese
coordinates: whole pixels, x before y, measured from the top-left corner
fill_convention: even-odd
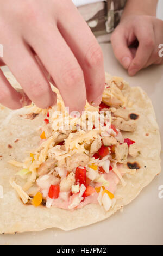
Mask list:
[[[103,53],[73,3],[70,8],[71,11],[59,14],[58,28],[83,70],[87,101],[98,105],[105,85]]]

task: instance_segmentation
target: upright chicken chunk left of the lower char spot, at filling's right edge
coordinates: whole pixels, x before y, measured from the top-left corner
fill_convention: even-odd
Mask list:
[[[124,163],[128,156],[128,145],[123,143],[115,146],[115,159],[118,163]]]

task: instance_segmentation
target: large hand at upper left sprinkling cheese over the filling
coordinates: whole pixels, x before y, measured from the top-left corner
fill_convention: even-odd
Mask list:
[[[3,57],[20,82],[25,98],[0,72],[0,103],[21,108],[22,99],[47,108],[56,102],[45,67],[70,111],[81,112],[86,99],[101,102],[105,74],[103,54],[71,0],[5,0],[0,8]],[[37,55],[37,60],[35,58]],[[30,99],[30,100],[29,100]]]

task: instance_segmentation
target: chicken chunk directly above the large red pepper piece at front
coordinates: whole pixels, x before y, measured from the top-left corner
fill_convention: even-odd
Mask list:
[[[67,169],[73,170],[78,166],[86,166],[89,162],[89,156],[84,153],[75,153],[71,157],[67,157]]]

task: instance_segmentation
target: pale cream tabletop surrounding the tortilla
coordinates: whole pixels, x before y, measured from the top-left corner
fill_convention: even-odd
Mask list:
[[[111,75],[122,76],[130,86],[142,87],[151,97],[163,143],[163,65],[151,66],[135,77],[129,77],[115,59],[110,44],[101,46],[105,70]],[[0,245],[163,245],[160,185],[163,185],[163,173],[156,176],[133,202],[124,206],[123,213],[117,212],[108,220],[72,231],[54,228],[38,233],[0,235]]]

